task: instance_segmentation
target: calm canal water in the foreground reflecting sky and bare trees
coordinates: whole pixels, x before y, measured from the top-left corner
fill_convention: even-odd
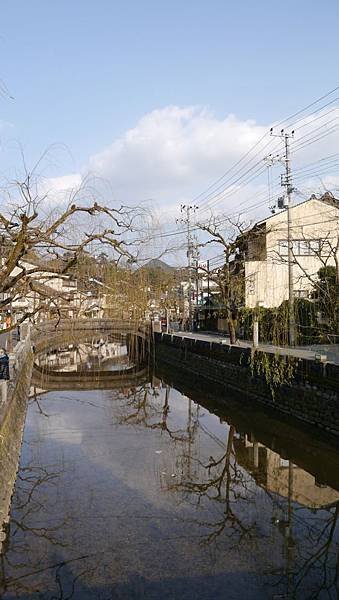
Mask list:
[[[156,379],[37,400],[4,599],[337,597],[338,459],[326,446],[290,443],[286,425],[268,445],[279,422],[254,435]]]

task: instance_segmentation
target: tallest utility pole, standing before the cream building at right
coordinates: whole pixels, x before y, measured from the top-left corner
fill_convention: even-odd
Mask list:
[[[273,135],[273,129],[271,129]],[[292,239],[292,222],[291,222],[291,205],[292,205],[292,175],[291,175],[291,159],[290,159],[290,139],[294,137],[294,131],[286,133],[284,129],[280,134],[275,136],[280,137],[284,141],[285,146],[285,175],[281,177],[281,185],[286,188],[286,202],[284,207],[287,209],[287,263],[288,263],[288,337],[290,346],[295,345],[295,318],[294,318],[294,291],[293,291],[293,239]]]

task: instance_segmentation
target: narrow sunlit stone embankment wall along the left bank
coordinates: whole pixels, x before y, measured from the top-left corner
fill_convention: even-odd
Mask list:
[[[6,539],[18,470],[32,366],[33,353],[30,337],[27,336],[15,348],[10,381],[2,382],[2,392],[5,393],[0,399],[0,554]]]

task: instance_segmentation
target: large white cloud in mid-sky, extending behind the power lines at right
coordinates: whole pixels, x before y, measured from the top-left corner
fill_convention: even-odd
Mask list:
[[[297,123],[291,153],[293,169],[339,152],[336,131],[316,144],[308,143],[312,137],[323,135],[326,130],[333,128],[337,110],[331,109],[331,114],[324,111],[323,115],[308,115]],[[331,122],[327,125],[329,120]],[[253,120],[241,120],[233,114],[218,118],[204,107],[167,106],[144,115],[133,128],[101,152],[92,155],[84,165],[82,174],[72,173],[49,179],[44,183],[45,189],[50,190],[50,197],[58,204],[68,199],[69,194],[84,182],[87,186],[86,178],[90,174],[93,177],[92,197],[93,190],[96,190],[99,201],[103,196],[107,200],[130,205],[146,202],[152,207],[155,223],[167,223],[173,229],[175,218],[180,216],[180,203],[192,202],[197,194],[242,158],[268,130],[268,124],[258,125]],[[266,150],[267,142],[274,142],[275,152],[283,153],[282,140],[265,138],[257,148],[260,151],[257,158],[249,162],[248,167],[248,159],[241,163],[242,173],[246,168],[253,167],[255,160],[258,160],[260,170],[265,153],[272,151],[272,146]],[[293,150],[293,144],[296,151]],[[301,147],[303,144],[304,147]],[[331,174],[337,171],[337,167],[334,170],[331,168],[329,166],[328,172],[320,173],[322,181],[330,188],[335,181]],[[275,166],[272,172],[275,183],[273,193],[276,195],[282,193],[281,172],[281,164]],[[251,208],[245,219],[252,220],[266,214],[269,204],[266,174],[251,181],[243,179],[237,182],[236,173],[237,167],[232,171],[233,180],[227,176],[221,182],[221,188],[217,190],[219,193],[223,186],[230,186],[230,183],[234,185],[228,187],[226,193],[212,199],[215,211],[230,213],[239,210],[246,215],[247,208],[257,202],[261,206],[258,209]],[[251,173],[248,177],[251,177]],[[314,185],[317,185],[315,192],[321,189],[321,181],[319,177],[316,178],[315,172],[306,171],[305,175],[305,178],[299,175],[297,179],[301,193],[308,194]],[[86,197],[85,194],[83,196]],[[202,201],[203,197],[198,198],[197,204]]]

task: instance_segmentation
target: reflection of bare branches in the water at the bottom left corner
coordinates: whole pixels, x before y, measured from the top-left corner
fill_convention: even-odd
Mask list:
[[[53,493],[50,488],[57,484],[62,472],[27,465],[18,474],[12,505],[11,535],[8,535],[5,552],[0,557],[0,597],[9,592],[15,597],[35,598],[35,594],[41,589],[40,585],[44,585],[40,578],[53,571],[55,591],[51,598],[71,599],[75,597],[77,581],[85,576],[90,577],[100,567],[107,549],[101,553],[87,552],[79,555],[72,552],[72,548],[64,541],[65,530],[74,526],[70,519],[57,519],[54,525],[40,525],[44,498]],[[38,551],[33,555],[32,536],[37,541],[34,548]],[[49,549],[50,545],[55,548],[53,552]],[[65,548],[68,549],[68,554],[73,554],[71,558],[46,564],[46,556],[51,554],[57,557],[58,551]],[[42,557],[41,561],[39,557]],[[76,574],[72,572],[73,563],[83,564],[83,568],[77,570]]]

